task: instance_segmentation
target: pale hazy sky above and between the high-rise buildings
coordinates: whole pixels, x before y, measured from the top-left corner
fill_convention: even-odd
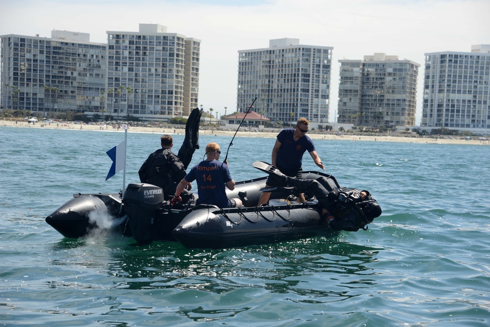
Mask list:
[[[0,35],[51,37],[51,31],[136,32],[139,24],[200,39],[199,103],[235,111],[238,50],[270,39],[333,47],[330,121],[337,108],[338,60],[384,52],[420,64],[416,124],[422,113],[424,53],[470,52],[490,44],[490,0],[0,0]]]

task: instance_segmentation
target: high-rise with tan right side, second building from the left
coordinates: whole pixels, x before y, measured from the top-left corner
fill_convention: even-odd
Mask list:
[[[107,35],[106,97],[113,116],[167,120],[198,106],[200,40],[158,24]]]

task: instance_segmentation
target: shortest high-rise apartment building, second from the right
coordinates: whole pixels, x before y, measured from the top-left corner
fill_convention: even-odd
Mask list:
[[[339,123],[364,127],[415,124],[419,64],[385,53],[339,62]]]

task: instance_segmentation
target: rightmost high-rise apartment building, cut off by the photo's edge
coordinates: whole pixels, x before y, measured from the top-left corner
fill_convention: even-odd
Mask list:
[[[421,126],[490,128],[490,45],[425,53]]]

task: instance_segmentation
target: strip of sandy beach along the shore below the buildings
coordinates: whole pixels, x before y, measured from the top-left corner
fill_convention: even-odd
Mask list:
[[[123,128],[114,128],[113,126],[108,125],[90,125],[90,124],[74,124],[73,122],[63,122],[63,123],[42,123],[36,122],[34,125],[29,124],[25,121],[8,121],[2,120],[0,126],[11,126],[11,127],[25,127],[25,128],[60,128],[60,129],[82,129],[82,130],[104,130],[104,131],[113,131],[113,132],[124,132]],[[242,130],[243,129],[243,130]],[[174,128],[174,126],[166,126],[166,127],[135,127],[129,126],[129,132],[144,132],[144,133],[159,133],[159,134],[183,134],[185,132],[184,126],[181,128]],[[215,135],[228,135],[233,136],[235,131],[230,130],[221,130],[218,128],[211,128],[210,126],[205,126],[200,129],[200,134],[215,134]],[[246,128],[240,128],[240,130],[236,133],[236,136],[247,136],[247,137],[270,137],[275,138],[278,132],[254,132],[253,130],[249,131]],[[371,136],[371,135],[362,135],[362,134],[348,134],[344,133],[343,135],[336,135],[335,133],[308,133],[308,136],[312,139],[322,139],[322,140],[342,140],[342,141],[375,141],[375,142],[406,142],[406,143],[435,143],[435,144],[465,144],[465,145],[489,145],[490,140],[478,140],[478,137],[473,136],[471,139],[466,139],[464,136],[442,136],[442,137],[430,137],[424,136],[420,137],[416,134],[399,134],[399,135],[380,135],[380,136]]]

